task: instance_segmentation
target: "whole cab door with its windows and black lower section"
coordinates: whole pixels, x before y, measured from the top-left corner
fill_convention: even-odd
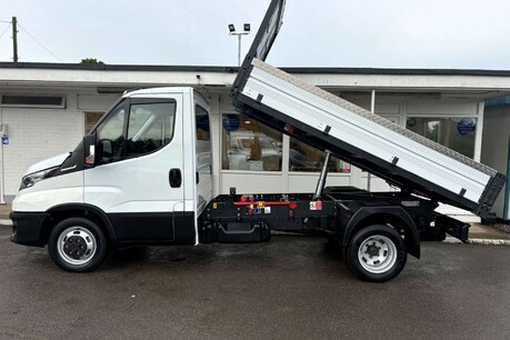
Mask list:
[[[194,226],[176,223],[184,208],[181,127],[182,94],[172,94],[127,98],[94,129],[84,201],[108,214],[118,241],[194,243]]]

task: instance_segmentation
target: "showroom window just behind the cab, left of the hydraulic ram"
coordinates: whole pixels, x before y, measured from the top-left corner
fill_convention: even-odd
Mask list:
[[[222,169],[281,171],[282,134],[241,113],[223,114]]]

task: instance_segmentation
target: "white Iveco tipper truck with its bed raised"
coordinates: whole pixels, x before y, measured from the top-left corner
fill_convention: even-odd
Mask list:
[[[209,104],[191,88],[127,92],[74,151],[30,167],[12,204],[17,243],[48,244],[68,271],[91,271],[111,248],[263,242],[271,231],[324,236],[359,278],[387,281],[420,257],[420,240],[469,224],[438,202],[484,220],[504,176],[264,63],[283,16],[272,0],[231,90],[234,107],[327,151],[310,193],[212,197]],[[400,192],[324,188],[330,154]]]

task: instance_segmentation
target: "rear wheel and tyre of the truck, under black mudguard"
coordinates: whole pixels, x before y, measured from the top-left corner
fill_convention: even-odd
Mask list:
[[[388,226],[370,226],[358,231],[349,243],[347,260],[360,279],[384,282],[398,276],[407,261],[402,237]]]

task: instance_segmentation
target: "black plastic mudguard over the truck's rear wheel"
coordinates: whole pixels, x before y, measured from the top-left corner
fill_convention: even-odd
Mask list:
[[[372,224],[391,226],[399,232],[403,229],[407,251],[411,256],[420,258],[421,248],[417,224],[409,213],[400,207],[366,207],[358,210],[343,231],[342,248],[344,256],[347,256],[347,249],[352,237],[361,229]]]

